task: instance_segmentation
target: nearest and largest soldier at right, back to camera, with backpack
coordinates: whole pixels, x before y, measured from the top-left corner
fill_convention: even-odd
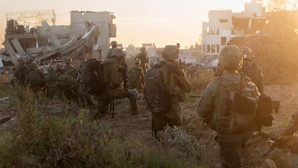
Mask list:
[[[241,96],[246,94],[246,92],[239,89],[241,75],[238,73],[238,69],[241,68],[242,57],[242,51],[234,45],[227,45],[220,51],[217,59],[223,68],[223,74],[208,84],[197,107],[199,117],[205,118],[211,129],[217,132],[215,140],[219,143],[219,154],[223,167],[238,168],[241,166],[242,143],[253,135],[252,131],[255,131],[255,125],[252,125],[252,123],[255,123],[254,111],[256,110],[257,96],[260,93],[249,78],[245,77],[242,85],[247,93],[251,94],[249,100],[254,100],[250,104],[252,105],[250,109],[254,109],[254,111],[249,111],[239,117],[238,111],[235,112],[235,99],[233,99],[233,107],[235,108],[230,108],[233,94],[235,96],[240,95],[239,92],[242,93]],[[237,116],[237,119],[235,119],[235,116]],[[246,125],[244,122],[246,122]],[[235,126],[235,124],[238,125]],[[240,131],[240,124],[245,125],[245,129]],[[246,129],[247,127],[254,129]]]

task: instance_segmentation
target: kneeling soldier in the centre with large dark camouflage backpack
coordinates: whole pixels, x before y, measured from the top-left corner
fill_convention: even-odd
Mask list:
[[[155,138],[159,140],[163,140],[164,128],[167,124],[169,124],[169,126],[171,127],[181,126],[182,114],[181,114],[180,102],[184,102],[186,100],[187,93],[189,93],[192,89],[192,86],[190,82],[187,80],[183,68],[175,64],[175,61],[179,58],[179,56],[180,56],[180,50],[175,45],[167,45],[164,51],[162,51],[162,57],[165,58],[165,61],[167,63],[168,75],[171,76],[170,74],[172,74],[172,77],[168,76],[168,78],[172,80],[168,81],[169,89],[166,91],[168,95],[167,99],[169,99],[168,111],[164,112],[163,114],[153,113],[151,111],[152,119],[153,119],[154,135],[155,135]],[[154,79],[155,77],[157,77],[157,74],[155,74],[155,71],[160,71],[161,68],[162,68],[161,65],[159,64],[155,65],[150,70],[148,70],[148,72],[145,74],[146,86],[144,87],[144,93],[145,93],[147,106],[157,101],[163,101],[163,100],[158,100],[157,98],[160,96],[156,96],[154,95],[155,93],[152,92],[151,89],[154,90],[156,89],[156,87],[150,87],[148,85],[148,83],[151,82],[150,79],[153,80],[152,82],[156,80]],[[150,77],[151,74],[152,74],[152,77]],[[160,86],[160,84],[158,85]],[[149,100],[149,99],[153,99],[153,100]]]

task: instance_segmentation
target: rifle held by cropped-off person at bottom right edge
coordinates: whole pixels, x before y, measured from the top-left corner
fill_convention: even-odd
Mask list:
[[[281,148],[280,145],[283,143],[281,137],[284,135],[293,135],[298,130],[298,111],[295,111],[292,114],[292,119],[289,121],[291,124],[287,127],[287,129],[280,129],[278,132],[276,132],[275,135],[270,135],[264,132],[260,132],[259,135],[263,138],[266,138],[269,140],[267,141],[270,149],[266,151],[262,157],[266,157],[271,151],[274,150],[274,148]],[[297,147],[287,147],[285,150],[297,153]]]

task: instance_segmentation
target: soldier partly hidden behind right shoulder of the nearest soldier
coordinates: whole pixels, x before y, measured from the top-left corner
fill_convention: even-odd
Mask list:
[[[260,94],[264,93],[264,78],[260,67],[252,61],[252,52],[248,47],[241,47],[243,52],[242,72],[256,84]]]

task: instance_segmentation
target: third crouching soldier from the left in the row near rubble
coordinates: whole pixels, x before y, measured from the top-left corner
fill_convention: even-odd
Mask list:
[[[47,71],[48,73],[44,76],[44,81],[47,86],[47,95],[50,99],[53,99],[53,95],[57,92],[56,80],[58,76],[52,67],[50,67]]]

